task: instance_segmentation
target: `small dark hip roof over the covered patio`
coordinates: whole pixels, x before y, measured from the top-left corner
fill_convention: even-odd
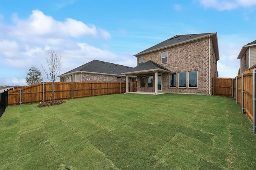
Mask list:
[[[134,68],[131,68],[130,70],[127,70],[126,72],[138,72],[138,71],[143,71],[143,70],[154,70],[154,69],[162,69],[162,70],[170,71],[167,68],[150,60],[150,61],[147,61],[146,63],[140,64]]]

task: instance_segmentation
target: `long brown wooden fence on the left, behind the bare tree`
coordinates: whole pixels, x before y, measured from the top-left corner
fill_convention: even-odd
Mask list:
[[[132,92],[132,84],[129,91]],[[126,92],[126,82],[55,82],[54,100],[66,100],[119,94]],[[24,88],[11,90],[8,94],[8,106],[47,102],[52,100],[50,82],[42,82]]]

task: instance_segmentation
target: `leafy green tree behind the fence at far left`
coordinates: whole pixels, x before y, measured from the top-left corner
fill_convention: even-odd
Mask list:
[[[44,80],[42,78],[41,72],[38,70],[38,68],[36,68],[35,66],[32,66],[26,75],[27,84],[32,85],[32,84],[40,83],[42,81]]]

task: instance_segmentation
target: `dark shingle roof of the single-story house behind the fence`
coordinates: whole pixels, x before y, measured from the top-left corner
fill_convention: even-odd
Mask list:
[[[64,74],[71,74],[73,72],[97,72],[97,73],[104,73],[104,74],[116,74],[116,75],[122,75],[121,73],[126,72],[127,70],[130,70],[133,67],[129,66],[123,66],[119,64],[114,63],[108,63],[104,61],[98,61],[93,60],[89,63],[86,63],[82,66],[79,66],[77,68],[74,68],[73,70],[70,70]],[[64,75],[62,74],[62,75]],[[62,76],[60,75],[60,76]]]

